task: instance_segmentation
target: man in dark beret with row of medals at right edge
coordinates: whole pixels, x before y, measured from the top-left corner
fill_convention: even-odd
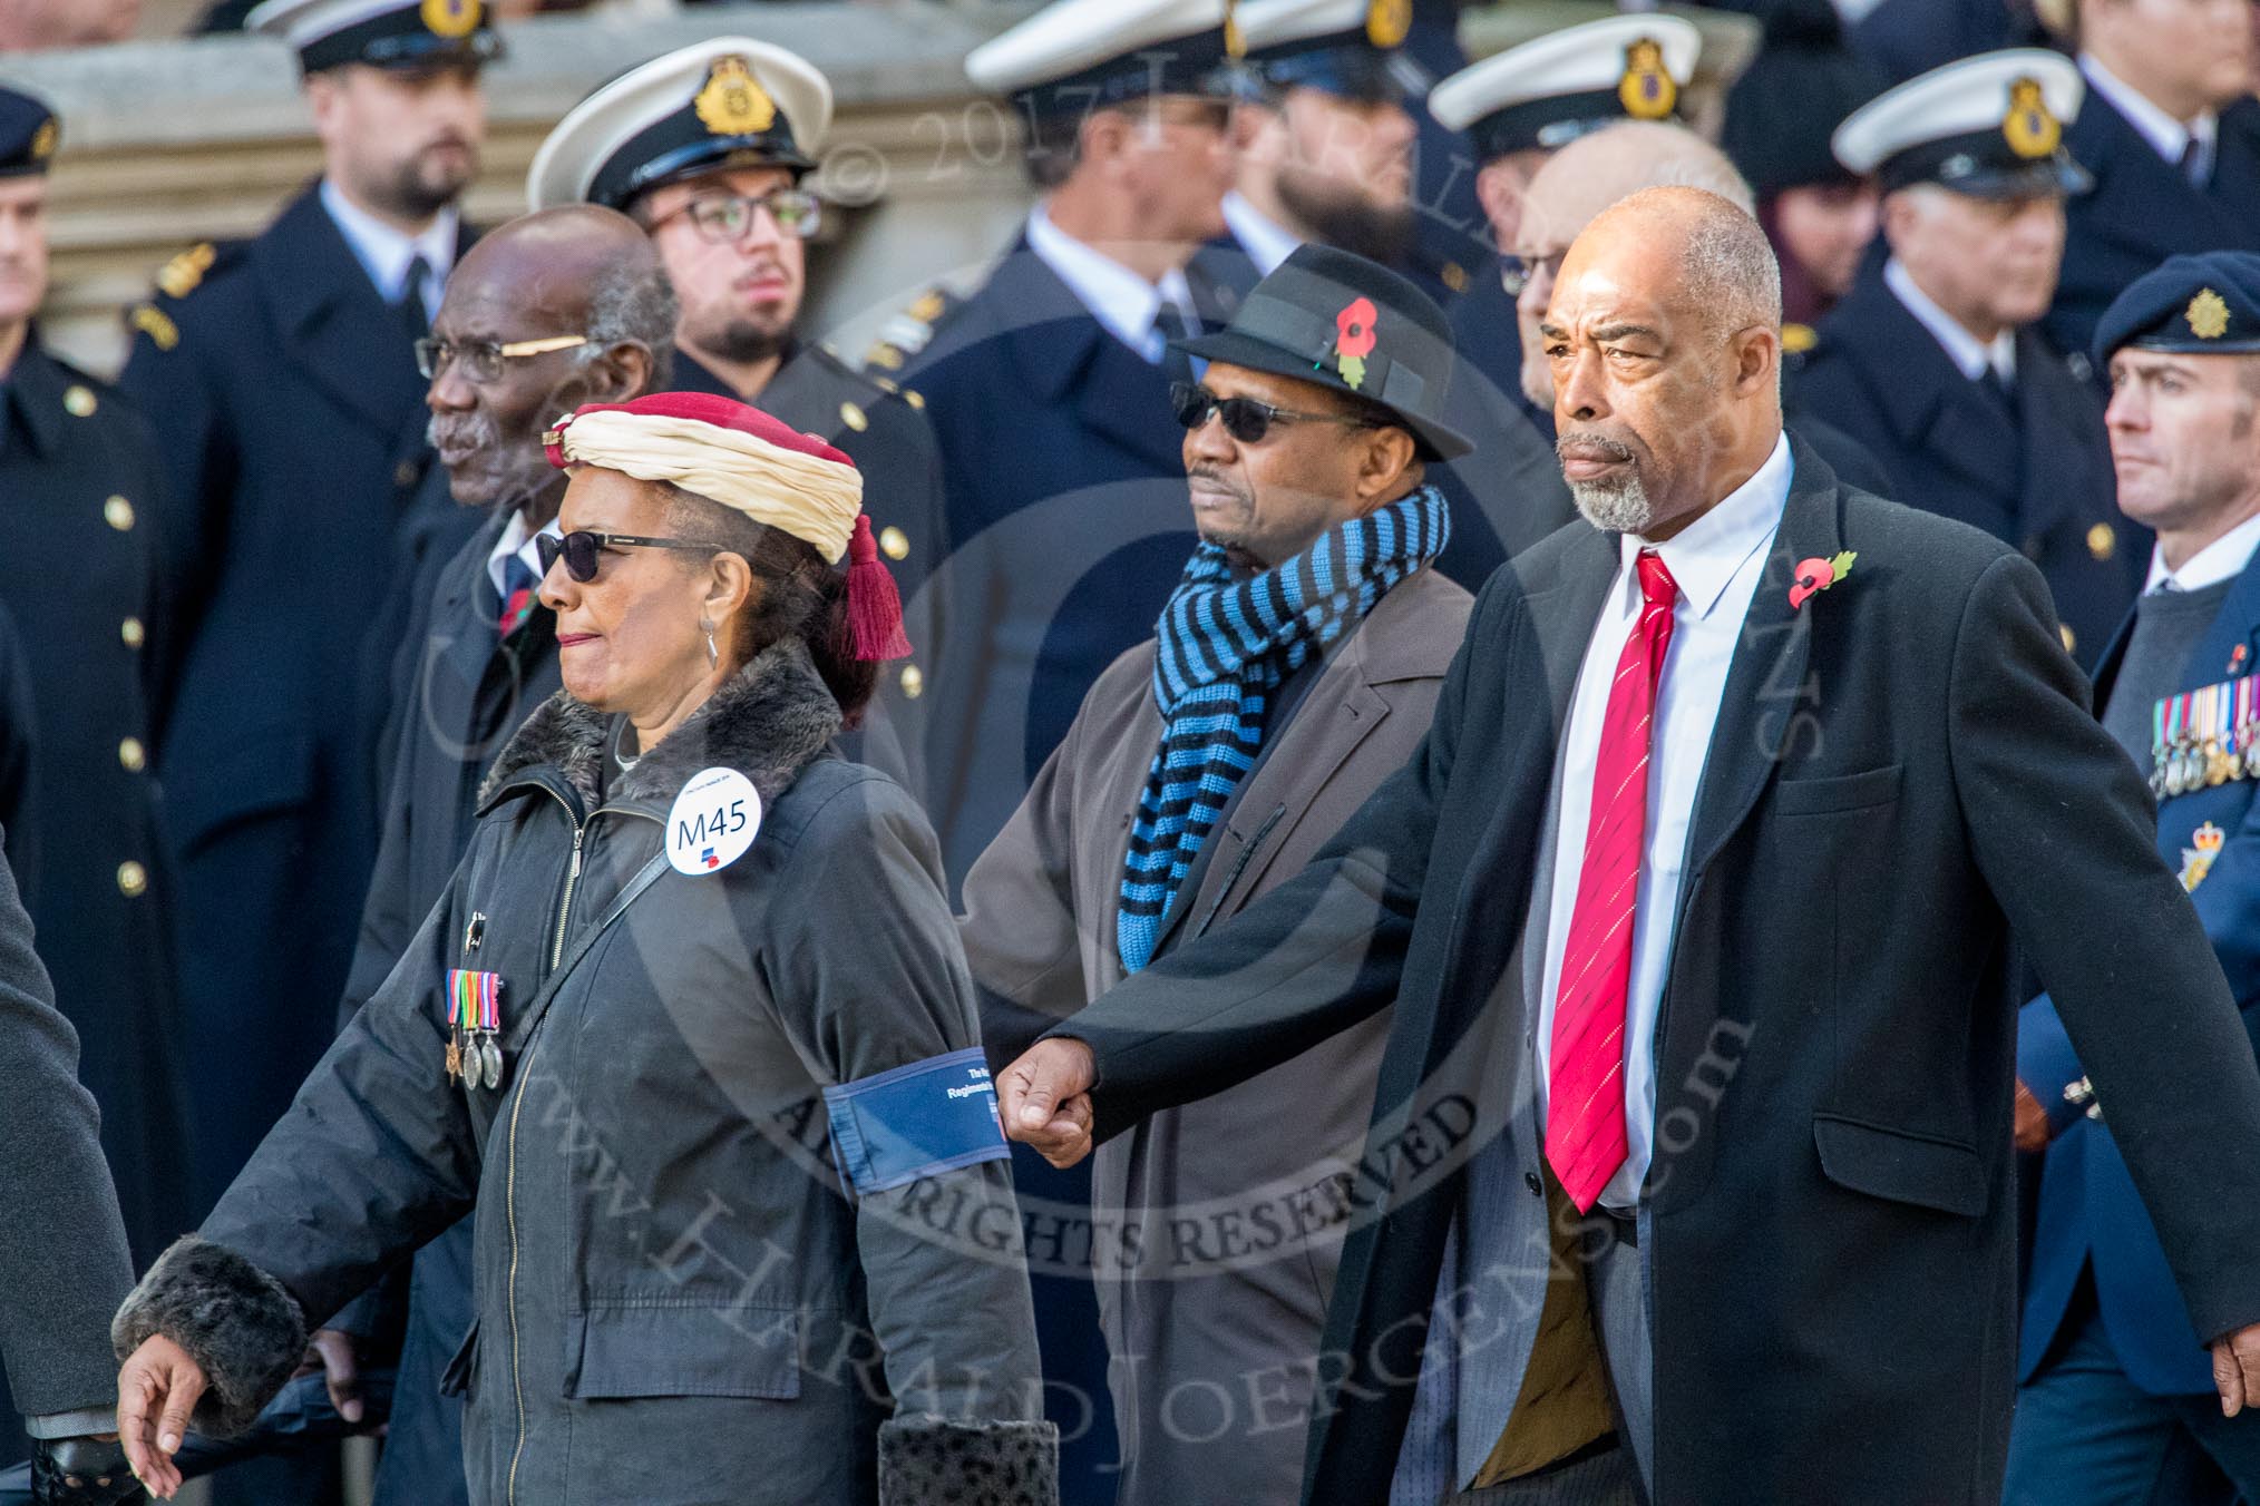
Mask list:
[[[2138,278],[2104,312],[2095,361],[2111,377],[2120,508],[2158,531],[2095,704],[2149,774],[2158,853],[2181,872],[2253,1034],[2260,255],[2183,255]],[[2018,1147],[2045,1145],[2048,1158],[2005,1504],[2260,1499],[2260,1411],[2222,1416],[2111,1109],[2048,996],[2018,1018],[2016,1075]]]

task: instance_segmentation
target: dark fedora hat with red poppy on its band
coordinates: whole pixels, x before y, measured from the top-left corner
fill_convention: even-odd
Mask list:
[[[1250,289],[1229,325],[1171,348],[1376,402],[1403,420],[1424,458],[1453,461],[1476,447],[1444,422],[1460,361],[1444,309],[1349,251],[1297,246]]]

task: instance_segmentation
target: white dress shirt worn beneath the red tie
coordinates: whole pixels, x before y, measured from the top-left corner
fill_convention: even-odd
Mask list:
[[[1702,781],[1718,725],[1720,698],[1733,648],[1749,616],[1749,598],[1765,573],[1767,546],[1781,526],[1790,497],[1790,440],[1774,440],[1774,454],[1758,472],[1715,508],[1663,544],[1625,535],[1616,585],[1593,623],[1593,641],[1577,671],[1568,709],[1568,743],[1562,752],[1562,783],[1555,788],[1553,894],[1537,914],[1532,937],[1546,937],[1546,975],[1539,991],[1537,1084],[1539,1122],[1546,1122],[1553,1057],[1555,991],[1562,987],[1562,953],[1568,948],[1571,914],[1577,910],[1577,874],[1593,815],[1593,770],[1600,763],[1600,725],[1609,709],[1609,686],[1625,639],[1641,619],[1641,578],[1634,567],[1643,549],[1663,555],[1679,585],[1672,610],[1672,643],[1663,655],[1663,680],[1650,720],[1648,833],[1641,853],[1638,899],[1632,919],[1632,982],[1625,989],[1625,1140],[1629,1154],[1600,1201],[1609,1208],[1638,1206],[1641,1181],[1657,1138],[1657,1007],[1672,960],[1672,914],[1686,867],[1688,826],[1695,817],[1695,786]],[[1544,926],[1544,933],[1537,928]]]

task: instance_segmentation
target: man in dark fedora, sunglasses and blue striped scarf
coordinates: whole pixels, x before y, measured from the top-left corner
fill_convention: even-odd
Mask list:
[[[1469,449],[1440,422],[1435,303],[1311,244],[1182,350],[1207,361],[1173,391],[1200,549],[965,881],[999,1063],[1295,874],[1412,754],[1467,625],[1431,569],[1451,517],[1426,467]],[[1098,1154],[1123,1506],[1295,1499],[1385,1036],[1367,1021]]]

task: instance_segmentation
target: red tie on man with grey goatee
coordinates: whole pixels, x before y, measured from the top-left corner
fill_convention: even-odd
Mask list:
[[[1663,653],[1672,643],[1679,585],[1654,549],[1643,549],[1641,621],[1625,639],[1609,682],[1593,763],[1593,808],[1577,869],[1555,989],[1555,1032],[1546,1072],[1546,1163],[1587,1212],[1625,1165],[1625,993],[1632,984],[1632,912],[1648,849],[1648,738]]]

